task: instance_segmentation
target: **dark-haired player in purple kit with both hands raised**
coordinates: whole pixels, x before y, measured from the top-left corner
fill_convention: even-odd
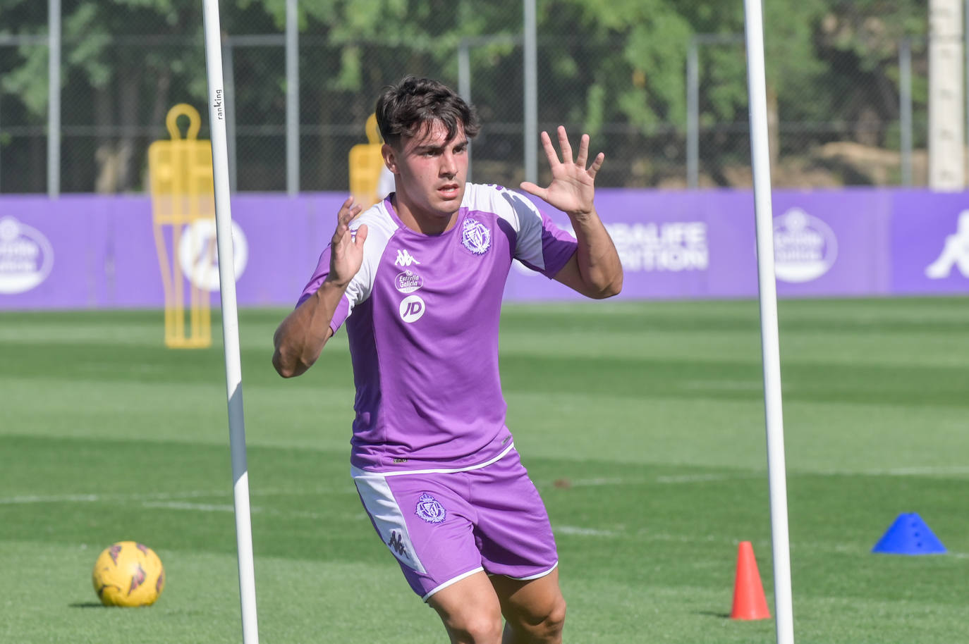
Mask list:
[[[346,323],[357,396],[352,474],[374,528],[452,642],[561,642],[565,599],[545,506],[505,426],[501,297],[513,259],[589,297],[622,287],[586,168],[547,133],[547,188],[576,237],[527,199],[466,184],[478,118],[451,89],[406,77],[377,102],[395,192],[359,213],[344,201],[297,308],[276,330],[285,378],[305,372]],[[502,617],[506,624],[502,629]]]

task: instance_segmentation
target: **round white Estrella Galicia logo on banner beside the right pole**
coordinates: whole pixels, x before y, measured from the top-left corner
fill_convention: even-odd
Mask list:
[[[774,274],[784,282],[816,280],[838,257],[838,240],[828,224],[800,208],[774,218]]]

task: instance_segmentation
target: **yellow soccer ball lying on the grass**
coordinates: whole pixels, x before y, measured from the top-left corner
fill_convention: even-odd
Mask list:
[[[98,556],[91,579],[106,606],[150,606],[165,588],[165,568],[148,546],[118,541]]]

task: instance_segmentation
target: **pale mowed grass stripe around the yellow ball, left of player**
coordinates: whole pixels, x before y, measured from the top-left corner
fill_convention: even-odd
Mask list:
[[[0,553],[20,562],[23,571],[16,586],[17,609],[2,613],[0,639],[18,644],[239,642],[234,553],[154,549],[166,569],[165,591],[149,609],[124,610],[101,607],[91,588],[91,567],[100,546],[0,542]],[[422,644],[439,636],[441,627],[430,609],[400,588],[406,583],[387,562],[260,556],[256,576],[265,641],[341,644],[359,637]],[[396,630],[390,632],[388,625]]]

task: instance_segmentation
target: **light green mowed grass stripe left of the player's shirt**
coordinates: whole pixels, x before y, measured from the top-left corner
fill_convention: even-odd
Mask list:
[[[222,377],[224,380],[224,376]],[[0,435],[124,438],[145,443],[229,444],[224,382],[103,383],[0,378],[7,403]],[[243,383],[246,442],[349,454],[351,386],[272,388]],[[305,410],[305,414],[298,412]]]

